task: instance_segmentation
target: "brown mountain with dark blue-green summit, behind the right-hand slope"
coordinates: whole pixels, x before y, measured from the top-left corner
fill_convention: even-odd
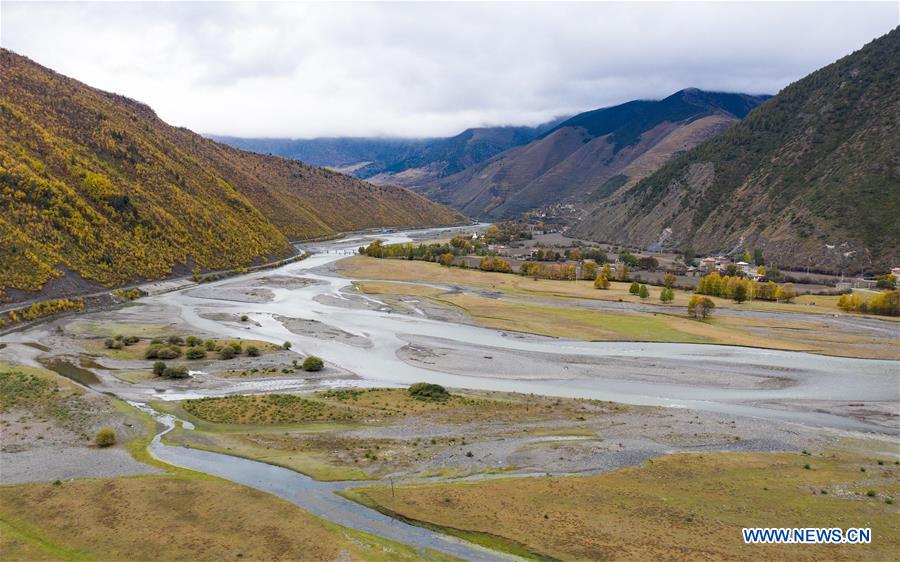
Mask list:
[[[721,133],[765,99],[688,89],[659,101],[588,111],[417,190],[483,218],[598,198]]]

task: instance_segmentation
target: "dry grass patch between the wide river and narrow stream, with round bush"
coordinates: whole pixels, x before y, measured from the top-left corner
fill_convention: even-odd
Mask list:
[[[335,396],[343,396],[338,399]],[[348,398],[355,395],[356,399]],[[330,397],[329,397],[330,396]],[[290,397],[293,398],[293,397]],[[406,424],[446,424],[455,427],[487,424],[522,424],[521,431],[547,434],[547,420],[568,422],[585,416],[617,414],[628,407],[608,402],[557,399],[520,394],[451,395],[446,402],[424,402],[409,398],[401,389],[342,390],[303,397],[317,404],[285,409],[282,417],[270,412],[259,416],[264,397],[242,396],[203,401],[191,412],[186,403],[156,403],[157,409],[194,424],[193,430],[176,429],[168,442],[260,460],[302,472],[317,480],[365,480],[409,469],[447,449],[465,445],[456,437],[373,438],[347,434],[366,427],[402,428]],[[276,401],[279,398],[276,398]],[[293,400],[285,401],[293,404]],[[334,414],[329,417],[329,413]],[[205,417],[201,417],[205,416]],[[285,420],[293,419],[294,423]],[[222,420],[215,422],[212,420]],[[518,426],[517,426],[518,427]],[[535,429],[540,428],[540,429]],[[559,433],[572,435],[570,427]],[[473,439],[477,435],[473,435]]]

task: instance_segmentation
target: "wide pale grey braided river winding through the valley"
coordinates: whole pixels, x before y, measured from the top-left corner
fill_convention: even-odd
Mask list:
[[[439,229],[381,235],[386,243],[434,236]],[[330,273],[329,264],[355,253],[369,237],[352,237],[310,245],[312,257],[266,272],[204,285],[204,296],[190,290],[147,299],[174,307],[189,324],[224,337],[253,337],[273,343],[290,341],[293,349],[315,354],[326,362],[356,373],[363,385],[404,385],[426,380],[445,386],[533,392],[563,397],[612,400],[628,404],[691,408],[756,416],[858,431],[887,431],[881,425],[819,411],[814,403],[831,401],[900,401],[900,364],[895,361],[821,356],[767,349],[674,343],[585,342],[530,337],[386,310],[346,306],[351,280]],[[269,285],[273,275],[317,281],[299,288]],[[234,286],[267,289],[269,302],[237,302],[216,297],[216,289]],[[372,300],[372,299],[370,299]],[[233,322],[210,320],[211,312],[247,314],[258,323],[251,330]],[[357,339],[323,339],[315,333],[294,333],[283,317],[315,320]],[[296,330],[295,330],[296,331]],[[358,345],[366,342],[365,346]],[[410,342],[428,342],[452,354],[483,353],[477,369],[429,368],[398,357]],[[506,372],[502,359],[533,358],[546,370],[517,376]],[[586,375],[565,376],[568,362],[593,362]],[[765,381],[749,384],[741,381]],[[237,383],[236,383],[237,384]],[[291,390],[302,381],[243,381],[241,392]],[[275,386],[273,386],[275,385]],[[236,389],[237,390],[237,389]],[[219,391],[217,391],[219,392]],[[165,393],[155,399],[206,395],[204,391]],[[811,405],[812,404],[812,405]]]

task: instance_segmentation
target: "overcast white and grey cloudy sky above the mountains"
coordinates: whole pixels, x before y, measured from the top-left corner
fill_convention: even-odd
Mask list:
[[[4,1],[0,44],[203,133],[433,136],[689,86],[776,93],[897,24],[894,1]]]

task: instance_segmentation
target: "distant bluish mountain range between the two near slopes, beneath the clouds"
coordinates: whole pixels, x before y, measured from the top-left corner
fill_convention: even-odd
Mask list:
[[[689,89],[538,127],[467,129],[440,139],[213,138],[403,185],[493,220],[550,203],[602,198],[722,132],[765,99]]]

